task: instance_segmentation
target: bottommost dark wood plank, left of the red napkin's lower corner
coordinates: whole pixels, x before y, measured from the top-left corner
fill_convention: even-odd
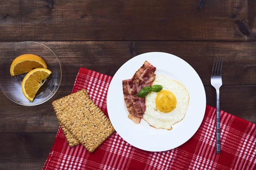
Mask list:
[[[0,133],[1,170],[41,170],[56,133]]]

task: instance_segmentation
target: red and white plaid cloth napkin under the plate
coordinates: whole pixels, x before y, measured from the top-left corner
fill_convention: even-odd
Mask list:
[[[108,115],[106,97],[112,77],[80,68],[72,93],[87,89]],[[137,149],[113,133],[95,152],[70,148],[58,129],[43,170],[256,170],[256,125],[221,111],[221,154],[215,154],[215,108],[206,106],[198,131],[185,144],[165,152]]]

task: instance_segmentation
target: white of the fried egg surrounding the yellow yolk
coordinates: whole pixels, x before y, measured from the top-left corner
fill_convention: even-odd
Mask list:
[[[155,128],[172,130],[172,125],[180,122],[186,115],[189,106],[189,92],[180,82],[166,79],[164,76],[157,76],[152,85],[162,85],[163,90],[171,91],[177,100],[176,108],[169,112],[160,112],[156,107],[156,92],[150,92],[145,97],[146,110],[143,119]]]

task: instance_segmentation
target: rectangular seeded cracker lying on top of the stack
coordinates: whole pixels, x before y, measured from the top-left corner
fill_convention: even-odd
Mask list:
[[[90,99],[86,90],[58,99],[52,105],[60,124],[89,152],[93,152],[114,132],[110,120]]]

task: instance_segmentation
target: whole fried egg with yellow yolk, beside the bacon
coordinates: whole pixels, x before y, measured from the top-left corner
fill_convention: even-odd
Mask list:
[[[189,92],[180,82],[158,76],[152,85],[162,85],[163,89],[150,92],[145,97],[146,110],[143,119],[155,128],[172,130],[172,125],[180,122],[189,106]]]

